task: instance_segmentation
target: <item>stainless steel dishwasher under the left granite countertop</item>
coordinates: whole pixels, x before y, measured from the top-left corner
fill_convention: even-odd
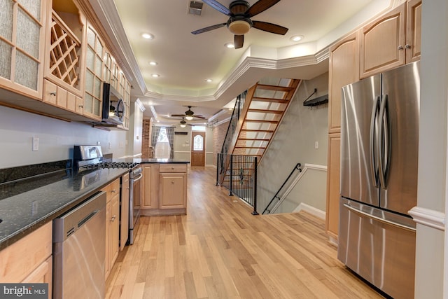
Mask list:
[[[53,220],[53,298],[105,295],[106,193]]]

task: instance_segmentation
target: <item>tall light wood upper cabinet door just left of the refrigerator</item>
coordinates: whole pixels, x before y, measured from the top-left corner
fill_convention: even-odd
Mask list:
[[[341,131],[341,88],[359,80],[359,32],[330,47],[328,132]]]

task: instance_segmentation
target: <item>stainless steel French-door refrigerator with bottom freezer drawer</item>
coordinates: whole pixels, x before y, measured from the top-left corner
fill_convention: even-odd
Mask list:
[[[393,298],[414,298],[419,62],[342,88],[337,258]]]

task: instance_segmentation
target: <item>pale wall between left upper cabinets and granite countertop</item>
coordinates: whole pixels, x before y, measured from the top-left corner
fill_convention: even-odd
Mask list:
[[[39,139],[38,151],[32,151],[32,137]],[[97,142],[103,153],[120,158],[127,155],[127,138],[123,130],[109,132],[0,106],[0,168],[71,159],[73,145]]]

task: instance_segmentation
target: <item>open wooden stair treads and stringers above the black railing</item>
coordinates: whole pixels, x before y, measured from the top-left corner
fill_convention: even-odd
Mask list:
[[[260,162],[300,83],[285,78],[267,81],[270,84],[260,81],[248,90],[228,153],[257,156]]]

